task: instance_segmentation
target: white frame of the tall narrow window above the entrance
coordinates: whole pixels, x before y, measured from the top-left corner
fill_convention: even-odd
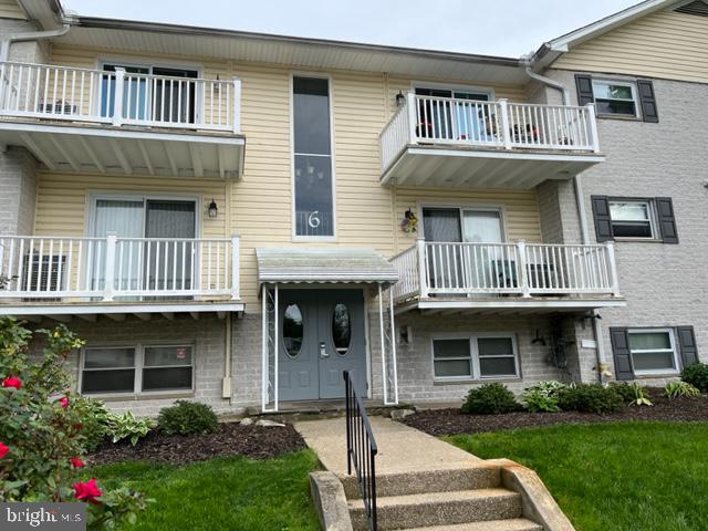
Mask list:
[[[295,107],[294,107],[294,79],[295,77],[312,77],[316,80],[326,80],[327,94],[330,98],[330,165],[332,174],[332,235],[331,236],[303,236],[298,235],[298,212],[295,209]],[[337,222],[336,222],[336,142],[334,138],[334,83],[330,74],[323,74],[319,72],[290,72],[290,223],[292,226],[291,237],[293,242],[306,242],[306,241],[322,241],[334,242],[337,239]],[[300,153],[299,155],[312,155]],[[324,155],[312,155],[322,157]]]

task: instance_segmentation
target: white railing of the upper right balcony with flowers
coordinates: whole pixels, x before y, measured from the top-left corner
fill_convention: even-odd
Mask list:
[[[592,104],[534,105],[413,93],[379,135],[382,168],[386,170],[409,144],[600,150]]]

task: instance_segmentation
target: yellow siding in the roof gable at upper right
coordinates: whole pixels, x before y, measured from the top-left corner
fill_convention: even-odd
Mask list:
[[[659,11],[580,44],[552,67],[708,83],[708,18]]]

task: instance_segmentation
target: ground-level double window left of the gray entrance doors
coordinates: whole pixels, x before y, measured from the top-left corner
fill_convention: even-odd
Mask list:
[[[88,347],[82,358],[82,394],[191,391],[194,346]]]

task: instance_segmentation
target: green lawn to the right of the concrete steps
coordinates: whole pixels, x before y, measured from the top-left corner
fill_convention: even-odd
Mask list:
[[[708,529],[708,424],[612,423],[462,435],[534,469],[579,531]]]

